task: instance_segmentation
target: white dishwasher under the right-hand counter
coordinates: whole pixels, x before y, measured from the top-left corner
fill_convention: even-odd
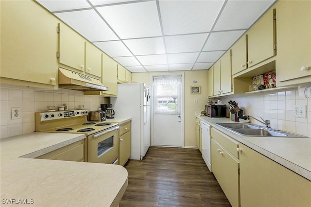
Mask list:
[[[201,121],[202,127],[202,157],[207,165],[207,168],[210,172],[211,170],[211,162],[210,162],[210,136],[209,136],[209,129],[210,125]]]

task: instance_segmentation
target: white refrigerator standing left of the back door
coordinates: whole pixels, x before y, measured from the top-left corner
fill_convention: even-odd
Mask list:
[[[110,98],[116,118],[132,118],[130,159],[142,160],[150,146],[149,89],[143,83],[118,84],[118,97]]]

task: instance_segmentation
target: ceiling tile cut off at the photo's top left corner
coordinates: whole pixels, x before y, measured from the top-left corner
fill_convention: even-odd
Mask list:
[[[86,0],[36,0],[51,12],[91,8]]]

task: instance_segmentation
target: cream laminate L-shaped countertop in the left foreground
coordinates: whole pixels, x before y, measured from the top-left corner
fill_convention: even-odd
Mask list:
[[[34,159],[85,138],[84,134],[34,132],[0,139],[0,205],[118,206],[127,188],[124,167]]]

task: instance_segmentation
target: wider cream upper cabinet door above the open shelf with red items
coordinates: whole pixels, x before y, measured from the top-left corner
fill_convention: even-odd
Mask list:
[[[248,68],[276,54],[274,11],[268,10],[247,32]]]

